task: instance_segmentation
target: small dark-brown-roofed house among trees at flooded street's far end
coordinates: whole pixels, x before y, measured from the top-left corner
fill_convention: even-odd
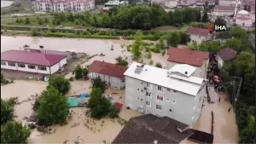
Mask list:
[[[218,61],[218,68],[224,66],[224,62],[236,59],[237,51],[231,48],[224,48],[217,52],[216,60]]]

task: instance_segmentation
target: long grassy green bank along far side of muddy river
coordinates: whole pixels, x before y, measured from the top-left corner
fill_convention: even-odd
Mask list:
[[[180,34],[185,34],[184,30],[178,31]],[[97,38],[97,39],[134,39],[138,31],[104,31],[99,29],[71,29],[71,28],[54,28],[46,26],[10,26],[2,25],[1,34],[8,36],[32,36],[32,37],[77,37],[77,38]],[[143,33],[144,40],[156,41],[172,32],[157,32],[157,31],[140,31]],[[175,31],[176,32],[176,31]]]

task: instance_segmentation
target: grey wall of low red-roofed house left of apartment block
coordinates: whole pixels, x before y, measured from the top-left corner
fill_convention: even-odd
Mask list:
[[[125,79],[114,78],[114,77],[110,77],[110,76],[103,75],[103,74],[96,73],[96,72],[89,72],[88,76],[90,79],[97,78],[97,77],[102,78],[102,80],[105,81],[106,84],[108,84],[108,86],[113,89],[124,89],[125,88],[125,82],[124,82]]]

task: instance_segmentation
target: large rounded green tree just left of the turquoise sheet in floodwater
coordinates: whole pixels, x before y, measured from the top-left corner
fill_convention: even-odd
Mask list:
[[[43,125],[64,124],[69,114],[67,97],[50,87],[42,92],[38,107],[38,123]]]

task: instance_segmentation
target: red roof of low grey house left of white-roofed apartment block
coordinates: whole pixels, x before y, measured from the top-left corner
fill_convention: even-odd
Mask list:
[[[96,72],[115,78],[125,78],[126,66],[119,66],[112,63],[94,60],[89,66],[89,72]]]

